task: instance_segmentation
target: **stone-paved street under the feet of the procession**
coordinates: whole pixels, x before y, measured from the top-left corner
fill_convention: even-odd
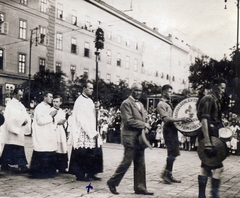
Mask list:
[[[32,139],[26,137],[26,154],[30,161]],[[119,195],[109,192],[106,181],[114,173],[123,156],[123,147],[119,144],[105,143],[103,146],[104,172],[98,174],[101,181],[92,181],[93,189],[87,193],[90,182],[79,182],[73,175],[58,174],[53,179],[32,179],[27,174],[0,172],[0,197],[97,197],[97,198],[137,198],[137,197],[197,197],[200,160],[195,151],[181,151],[174,164],[173,175],[182,183],[167,185],[160,181],[160,173],[165,165],[166,149],[146,149],[147,186],[154,196],[135,195],[133,191],[133,167],[126,173],[119,187]],[[220,187],[220,197],[240,198],[240,156],[230,156],[224,161],[224,173]],[[207,186],[210,197],[210,182]]]

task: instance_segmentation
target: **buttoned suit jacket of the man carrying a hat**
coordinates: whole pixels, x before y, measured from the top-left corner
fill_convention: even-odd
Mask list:
[[[139,104],[140,110],[132,97],[128,97],[121,104],[121,140],[124,146],[135,147],[139,145],[138,137],[147,121],[147,111],[141,102]]]

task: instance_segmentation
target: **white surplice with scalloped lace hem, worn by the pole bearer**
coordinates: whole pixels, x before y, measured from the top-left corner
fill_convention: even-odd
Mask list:
[[[100,147],[102,144],[100,137],[98,145],[93,138],[97,134],[94,103],[90,98],[80,95],[73,107],[69,143],[75,149]]]

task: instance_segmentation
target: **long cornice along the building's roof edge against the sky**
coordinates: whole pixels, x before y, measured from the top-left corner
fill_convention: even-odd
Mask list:
[[[128,16],[127,14],[121,12],[120,10],[106,4],[103,1],[100,0],[85,0],[86,2],[89,2],[95,6],[97,6],[98,8],[114,15],[115,17],[120,18],[121,20],[143,30],[144,32],[151,34],[152,36],[162,40],[163,42],[172,45],[172,41],[170,41],[167,37],[164,37],[163,35],[161,35],[160,33],[152,30],[151,28],[147,27],[146,25],[143,25],[141,22],[139,22],[138,20]]]

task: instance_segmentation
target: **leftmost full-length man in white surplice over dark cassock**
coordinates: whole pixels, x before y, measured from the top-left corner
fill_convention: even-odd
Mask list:
[[[20,102],[23,91],[20,88],[13,90],[13,97],[8,101],[2,125],[4,148],[1,157],[1,170],[9,171],[9,165],[18,165],[21,172],[27,172],[27,159],[24,151],[25,132],[30,132],[30,116]]]

